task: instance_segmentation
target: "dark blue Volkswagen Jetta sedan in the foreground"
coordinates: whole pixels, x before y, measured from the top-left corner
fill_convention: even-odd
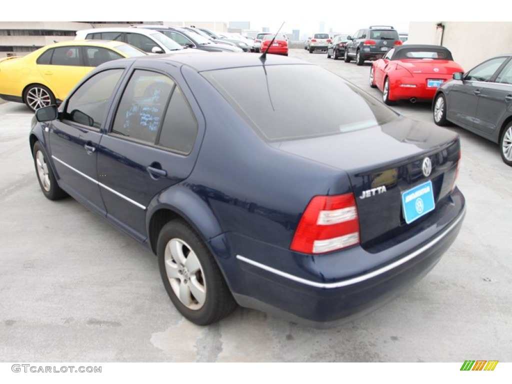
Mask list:
[[[457,134],[301,60],[196,56],[105,63],[30,132],[42,193],[150,247],[183,316],[332,326],[439,261],[465,212]]]

